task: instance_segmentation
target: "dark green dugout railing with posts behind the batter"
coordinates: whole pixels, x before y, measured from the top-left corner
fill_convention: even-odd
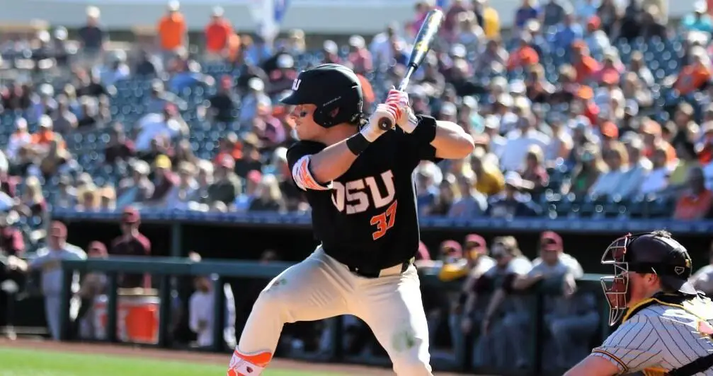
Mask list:
[[[152,257],[152,258],[130,258],[130,257],[111,257],[106,259],[89,258],[85,261],[62,261],[63,269],[63,286],[62,286],[62,306],[61,314],[61,333],[62,339],[68,340],[68,328],[71,325],[69,317],[69,302],[71,298],[71,283],[73,273],[88,273],[101,272],[107,276],[108,286],[106,288],[107,305],[106,305],[106,340],[110,343],[120,342],[117,338],[118,325],[118,276],[123,273],[135,274],[150,274],[155,278],[155,286],[158,290],[158,298],[160,301],[159,320],[158,320],[158,343],[156,346],[160,348],[170,348],[170,315],[171,315],[171,283],[172,277],[190,277],[190,276],[217,276],[214,277],[215,286],[222,284],[230,278],[259,278],[270,279],[292,263],[257,263],[255,261],[232,261],[232,260],[205,260],[200,262],[192,262],[187,258],[175,257]],[[421,283],[423,288],[431,288],[439,291],[453,290],[461,288],[460,281],[444,283],[438,279],[437,270],[434,268],[420,268]],[[599,275],[588,274],[578,281],[580,292],[598,293],[600,291]],[[456,356],[453,360],[440,361],[434,360],[434,367],[438,370],[451,370],[463,372],[489,372],[497,375],[556,375],[558,370],[548,370],[543,365],[544,343],[547,337],[546,330],[543,328],[543,301],[545,296],[561,293],[561,281],[548,281],[534,286],[530,291],[525,292],[528,295],[528,310],[531,318],[531,324],[528,328],[530,334],[528,338],[532,341],[529,349],[530,367],[528,370],[509,370],[509,369],[474,369],[471,362],[472,350],[468,346],[468,350],[456,352],[462,356]],[[215,306],[222,307],[225,305],[225,296],[221,288],[214,289]],[[602,301],[602,299],[597,299]],[[600,341],[602,336],[607,333],[607,325],[605,325],[605,312],[603,305],[599,306],[602,309],[600,314],[600,330],[597,330],[595,338],[589,338],[593,343]],[[222,325],[215,323],[225,322],[225,311],[222,309],[214,310],[215,317],[212,320],[214,326],[212,350],[216,352],[225,351],[223,342]],[[332,343],[334,346],[328,354],[322,354],[319,359],[327,362],[356,362],[369,364],[388,364],[388,360],[374,357],[353,357],[344,353],[342,348],[342,335],[344,328],[342,320],[329,320],[329,325],[332,327],[333,335]],[[471,339],[472,340],[472,339]],[[315,359],[312,359],[315,360]]]

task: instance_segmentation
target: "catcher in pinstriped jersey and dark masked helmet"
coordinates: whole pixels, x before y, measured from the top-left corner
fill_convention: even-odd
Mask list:
[[[713,303],[687,281],[688,251],[666,231],[627,235],[602,256],[612,335],[565,376],[713,376]]]

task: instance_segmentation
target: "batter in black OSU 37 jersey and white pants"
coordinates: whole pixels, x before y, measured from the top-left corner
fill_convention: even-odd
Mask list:
[[[295,106],[300,140],[287,162],[322,244],[260,293],[227,375],[260,375],[284,323],[337,315],[364,320],[397,375],[432,375],[413,266],[419,221],[412,176],[421,160],[466,157],[473,139],[452,122],[414,115],[397,90],[367,119],[359,78],[337,64],[300,73],[283,102]],[[382,118],[394,130],[381,130]]]

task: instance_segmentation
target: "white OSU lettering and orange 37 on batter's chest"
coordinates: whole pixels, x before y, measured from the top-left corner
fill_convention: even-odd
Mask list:
[[[384,187],[384,190],[379,187]],[[396,189],[394,188],[394,173],[391,170],[382,172],[379,177],[365,177],[342,184],[332,182],[332,203],[337,210],[346,214],[359,214],[371,208],[382,209],[379,214],[371,216],[369,224],[375,231],[371,237],[376,240],[381,238],[394,227],[396,223]],[[373,207],[372,207],[373,205]]]

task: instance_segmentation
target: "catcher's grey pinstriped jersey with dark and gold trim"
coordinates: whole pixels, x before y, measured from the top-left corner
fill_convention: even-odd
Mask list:
[[[609,360],[622,373],[651,376],[712,354],[713,303],[695,298],[684,306],[652,302],[625,320],[593,355]],[[713,369],[696,376],[713,376]]]

